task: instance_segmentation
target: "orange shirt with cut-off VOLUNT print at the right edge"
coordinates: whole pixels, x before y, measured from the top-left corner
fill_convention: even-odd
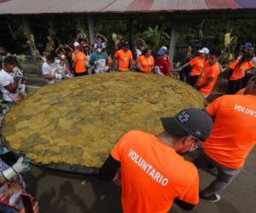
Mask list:
[[[207,107],[215,118],[204,152],[230,169],[240,169],[256,143],[256,96],[224,95]]]

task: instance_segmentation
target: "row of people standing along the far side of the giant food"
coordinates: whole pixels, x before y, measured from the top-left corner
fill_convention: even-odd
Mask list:
[[[140,46],[137,42],[140,42]],[[108,55],[108,40],[99,35],[96,43],[90,46],[88,40],[78,39],[73,43],[73,49],[61,45],[55,50],[55,55],[46,56],[42,66],[43,77],[47,83],[55,83],[64,78],[102,72],[143,72],[168,75],[189,83],[198,89],[206,98],[218,81],[219,74],[225,73],[229,85],[227,94],[236,94],[244,89],[248,80],[253,77],[256,66],[252,43],[246,43],[241,54],[228,65],[218,63],[221,57],[219,49],[203,47],[195,50],[188,47],[182,61],[182,66],[173,68],[166,46],[162,46],[154,55],[143,39],[137,39],[131,48],[130,43],[119,39],[114,46],[114,55]],[[224,66],[224,67],[223,67]]]

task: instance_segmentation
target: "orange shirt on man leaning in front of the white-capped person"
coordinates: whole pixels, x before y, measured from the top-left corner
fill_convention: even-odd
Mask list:
[[[203,95],[210,95],[212,92],[212,89],[215,85],[215,83],[218,80],[218,75],[220,72],[220,68],[218,65],[218,62],[216,62],[214,65],[210,65],[207,61],[205,63],[205,66],[201,72],[201,77],[198,79],[198,86],[201,86],[203,83],[207,82],[207,78],[212,78],[212,82],[209,83],[206,87],[201,88],[199,91]]]

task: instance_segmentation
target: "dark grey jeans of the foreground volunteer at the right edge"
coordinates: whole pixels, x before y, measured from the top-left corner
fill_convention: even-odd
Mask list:
[[[193,163],[198,169],[212,169],[216,168],[218,170],[217,177],[212,183],[206,187],[201,193],[208,197],[221,190],[224,190],[233,179],[241,173],[242,169],[230,169],[218,164],[212,158],[209,158],[205,153],[201,152],[201,155],[196,158]]]

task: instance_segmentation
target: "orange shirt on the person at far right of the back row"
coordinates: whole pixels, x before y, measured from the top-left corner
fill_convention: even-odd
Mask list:
[[[254,66],[253,62],[243,62],[241,66],[236,67],[239,63],[239,59],[235,60],[233,63],[230,64],[230,68],[233,70],[232,75],[230,77],[230,81],[238,80],[245,77],[247,70],[252,69]]]

